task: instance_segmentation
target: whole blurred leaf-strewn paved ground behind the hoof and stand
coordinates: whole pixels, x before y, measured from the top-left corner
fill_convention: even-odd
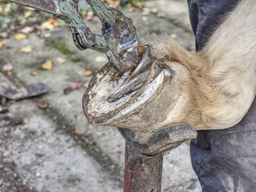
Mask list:
[[[169,35],[194,51],[185,0],[104,3],[133,20],[140,44]],[[100,34],[90,6],[79,5]],[[0,1],[0,191],[123,191],[124,138],[115,127],[89,124],[81,106],[90,79],[107,62],[100,52],[79,51],[63,20]],[[38,83],[44,86],[36,97],[20,94]],[[162,191],[201,191],[189,142],[164,156]]]

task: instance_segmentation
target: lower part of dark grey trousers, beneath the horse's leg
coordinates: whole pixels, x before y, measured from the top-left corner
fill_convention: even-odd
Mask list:
[[[191,161],[202,191],[256,191],[256,99],[239,124],[198,131]]]

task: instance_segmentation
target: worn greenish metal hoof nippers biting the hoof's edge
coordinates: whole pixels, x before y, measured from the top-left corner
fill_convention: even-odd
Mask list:
[[[107,8],[102,1],[87,1],[102,22],[102,35],[92,33],[90,28],[84,24],[78,12],[79,0],[8,1],[52,13],[56,17],[65,20],[72,31],[73,40],[78,49],[88,48],[104,52],[117,72],[124,73],[129,68],[134,67],[135,64],[131,56],[130,60],[121,59],[117,51],[118,45],[121,50],[124,50],[131,45],[138,44],[136,29],[132,20],[115,8]]]

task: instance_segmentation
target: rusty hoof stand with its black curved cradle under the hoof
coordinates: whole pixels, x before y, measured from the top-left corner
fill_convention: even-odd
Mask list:
[[[173,125],[136,140],[136,131],[118,127],[126,140],[124,192],[160,192],[163,154],[196,137],[190,125]]]

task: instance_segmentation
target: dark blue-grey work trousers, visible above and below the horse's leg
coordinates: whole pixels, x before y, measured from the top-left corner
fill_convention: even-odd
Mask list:
[[[220,20],[237,2],[188,0],[196,51],[204,47],[221,24]],[[256,191],[256,99],[243,120],[234,127],[198,131],[198,137],[191,141],[190,152],[202,191]]]

